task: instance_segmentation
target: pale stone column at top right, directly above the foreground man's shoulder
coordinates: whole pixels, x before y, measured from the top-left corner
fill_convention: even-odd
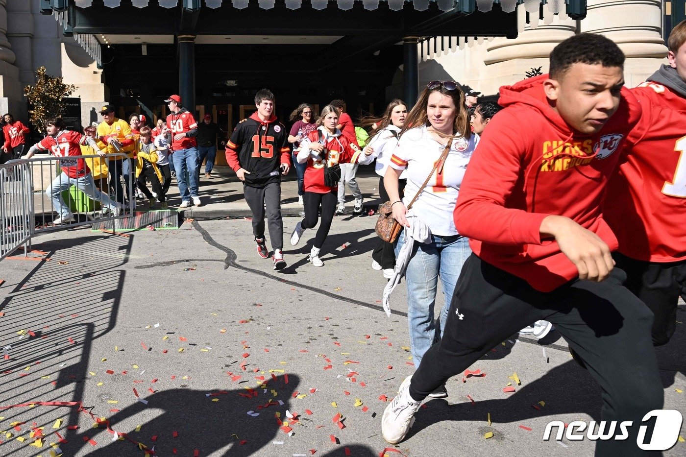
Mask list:
[[[662,23],[661,0],[588,0],[580,32],[603,34],[619,45],[626,55],[624,80],[633,87],[667,63]]]

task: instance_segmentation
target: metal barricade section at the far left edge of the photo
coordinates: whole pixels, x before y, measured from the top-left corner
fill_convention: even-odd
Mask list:
[[[21,245],[24,255],[31,248],[33,203],[29,163],[14,160],[0,165],[0,260]]]

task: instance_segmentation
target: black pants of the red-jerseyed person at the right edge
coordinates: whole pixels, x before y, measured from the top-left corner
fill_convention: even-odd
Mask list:
[[[679,295],[686,288],[686,261],[658,263],[631,259],[613,253],[618,268],[626,272],[624,285],[655,315],[652,344],[667,344],[676,330]]]

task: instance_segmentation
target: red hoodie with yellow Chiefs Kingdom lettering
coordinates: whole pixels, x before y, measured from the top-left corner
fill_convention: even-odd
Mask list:
[[[466,169],[455,225],[484,261],[550,292],[578,276],[554,240],[541,240],[547,215],[563,215],[596,233],[611,250],[617,238],[601,203],[622,144],[641,106],[622,89],[619,109],[600,132],[585,135],[550,108],[547,75],[500,89],[505,106],[488,123]]]

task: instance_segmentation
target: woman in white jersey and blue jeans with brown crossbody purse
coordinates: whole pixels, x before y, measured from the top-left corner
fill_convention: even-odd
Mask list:
[[[422,91],[407,115],[397,148],[388,161],[383,178],[393,217],[405,229],[399,237],[396,255],[410,256],[405,270],[407,283],[407,320],[414,366],[419,366],[424,353],[445,326],[453,290],[462,270],[462,263],[471,254],[469,240],[460,236],[453,222],[453,209],[464,170],[479,141],[471,133],[469,115],[464,105],[464,93],[453,81],[432,81]],[[441,160],[442,156],[445,159]],[[401,199],[398,180],[405,172],[407,185]],[[426,187],[407,210],[421,185],[431,175]],[[434,320],[434,303],[438,277],[441,280],[445,305]],[[447,397],[445,386],[432,397]]]

